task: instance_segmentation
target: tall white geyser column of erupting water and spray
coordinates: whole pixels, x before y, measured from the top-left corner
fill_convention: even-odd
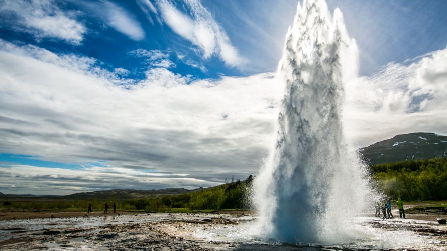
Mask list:
[[[368,182],[347,150],[343,85],[357,75],[358,50],[339,9],[298,4],[278,65],[283,84],[277,140],[254,186],[258,234],[285,242],[336,244],[367,205]]]

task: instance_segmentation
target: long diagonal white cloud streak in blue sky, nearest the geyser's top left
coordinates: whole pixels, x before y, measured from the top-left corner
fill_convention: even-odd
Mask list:
[[[199,1],[185,0],[192,17],[182,13],[168,0],[158,0],[161,16],[171,29],[197,46],[196,51],[204,59],[218,55],[228,67],[242,68],[246,59],[231,44],[225,30],[214,20],[211,13]]]

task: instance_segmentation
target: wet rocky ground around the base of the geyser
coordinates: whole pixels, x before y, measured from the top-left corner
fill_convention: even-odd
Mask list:
[[[85,215],[85,214],[84,214]],[[447,226],[356,218],[358,239],[297,245],[250,236],[251,214],[100,214],[0,221],[0,250],[447,250]]]

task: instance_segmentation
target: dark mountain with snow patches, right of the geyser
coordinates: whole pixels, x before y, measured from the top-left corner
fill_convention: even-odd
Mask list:
[[[371,165],[406,160],[447,157],[447,136],[433,133],[399,134],[391,139],[358,149],[364,161]]]

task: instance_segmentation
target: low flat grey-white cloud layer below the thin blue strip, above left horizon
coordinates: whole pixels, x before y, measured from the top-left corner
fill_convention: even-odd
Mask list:
[[[90,167],[80,170],[34,167],[26,165],[0,166],[0,189],[4,193],[65,195],[104,189],[161,189],[197,186],[208,187],[213,182],[190,178],[186,174],[157,173],[113,167]]]

